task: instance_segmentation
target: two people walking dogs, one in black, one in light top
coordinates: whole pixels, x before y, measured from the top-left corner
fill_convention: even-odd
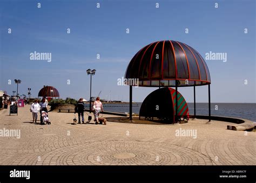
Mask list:
[[[75,114],[76,112],[78,113],[78,124],[81,123],[80,121],[80,117],[82,116],[82,123],[84,123],[84,102],[83,102],[83,98],[80,98],[76,104],[75,107]],[[99,113],[100,112],[104,112],[103,111],[103,105],[102,102],[100,101],[99,97],[96,98],[96,100],[93,102],[92,106],[91,106],[91,111],[94,114],[94,121],[95,124],[99,124]]]

